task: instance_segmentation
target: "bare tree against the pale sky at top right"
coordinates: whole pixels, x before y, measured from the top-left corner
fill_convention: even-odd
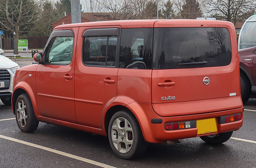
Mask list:
[[[255,0],[211,0],[205,5],[209,7],[210,15],[234,25],[238,21],[244,21],[256,9]]]

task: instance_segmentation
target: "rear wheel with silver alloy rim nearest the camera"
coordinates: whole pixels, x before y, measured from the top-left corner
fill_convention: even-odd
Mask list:
[[[121,120],[125,119],[126,121],[128,121],[127,122],[128,123],[127,124],[128,125],[127,129],[132,128],[132,133],[127,132],[125,126],[121,129],[119,129],[119,132],[116,131],[115,129],[112,129],[112,126],[114,127],[113,124],[114,124],[115,121],[117,121],[117,119],[121,119]],[[120,125],[122,125],[121,124],[122,122],[125,123],[125,121],[121,121]],[[124,130],[124,132],[120,131],[122,129]],[[122,133],[124,133],[124,135],[121,135]],[[126,133],[127,133],[127,135],[125,136]],[[123,139],[121,137],[123,137]],[[119,144],[120,144],[121,150],[124,153],[122,153],[122,152],[120,152],[119,150],[116,149],[112,138],[114,140],[121,141]],[[110,146],[111,146],[112,150],[115,152],[115,154],[118,157],[120,157],[122,159],[133,159],[133,158],[140,157],[145,153],[145,150],[147,149],[147,143],[144,141],[144,138],[143,138],[143,135],[142,135],[142,132],[141,132],[141,129],[140,129],[140,125],[139,125],[136,117],[128,110],[119,111],[119,112],[115,113],[112,116],[112,118],[109,122],[109,126],[108,126],[108,139],[109,139],[109,143],[110,143]],[[126,143],[128,143],[127,141],[132,141],[132,145],[129,146],[129,147],[127,145],[127,149],[126,149]],[[115,144],[117,145],[117,143],[115,143]],[[125,148],[122,148],[122,146],[125,147]]]

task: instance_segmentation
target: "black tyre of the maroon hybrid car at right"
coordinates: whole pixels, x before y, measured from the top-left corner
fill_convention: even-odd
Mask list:
[[[244,72],[240,71],[240,88],[241,88],[241,97],[243,103],[246,103],[251,95],[251,83],[248,77],[244,74]]]

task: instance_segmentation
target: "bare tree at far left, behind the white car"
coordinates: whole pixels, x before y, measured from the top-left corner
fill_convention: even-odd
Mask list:
[[[29,26],[36,21],[38,16],[36,4],[39,3],[34,0],[2,0],[0,10],[4,11],[5,15],[1,16],[0,24],[9,31],[12,31],[12,27],[8,25],[14,27],[15,41],[18,41],[19,33],[31,29]],[[6,25],[2,20],[7,20],[9,24]],[[15,54],[19,54],[18,45],[15,45]]]

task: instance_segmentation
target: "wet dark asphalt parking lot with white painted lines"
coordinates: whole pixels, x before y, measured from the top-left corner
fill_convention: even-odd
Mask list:
[[[0,101],[0,167],[256,167],[256,99],[244,108],[243,127],[223,144],[208,145],[200,138],[148,144],[143,157],[123,160],[104,136],[42,122],[34,133],[23,133],[11,106]]]

